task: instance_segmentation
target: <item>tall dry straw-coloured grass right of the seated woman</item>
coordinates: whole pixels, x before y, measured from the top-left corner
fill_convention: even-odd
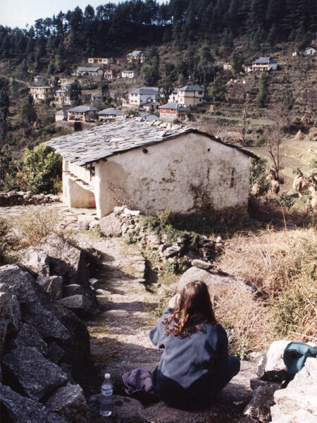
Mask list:
[[[237,321],[232,325],[239,327],[241,322],[248,333],[247,339],[254,338],[256,330],[254,332],[255,328],[247,320],[243,323],[241,316],[249,313],[252,321],[259,313],[254,324],[259,321],[263,321],[263,327],[270,324],[275,338],[317,341],[316,229],[279,232],[268,229],[256,234],[237,234],[228,241],[218,265],[253,283],[266,300],[264,314],[259,308],[259,300],[250,310],[251,302],[247,298],[246,304],[239,297],[235,300],[225,298],[223,304],[220,302],[221,309],[227,307],[228,310],[236,303],[239,310]]]

